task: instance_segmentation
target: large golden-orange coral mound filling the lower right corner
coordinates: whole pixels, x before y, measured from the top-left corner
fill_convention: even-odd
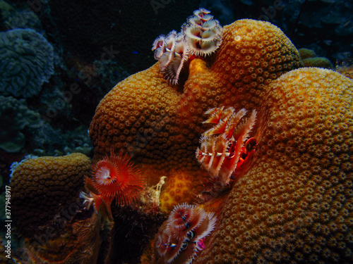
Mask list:
[[[252,166],[196,263],[352,263],[353,82],[301,68],[266,90]]]

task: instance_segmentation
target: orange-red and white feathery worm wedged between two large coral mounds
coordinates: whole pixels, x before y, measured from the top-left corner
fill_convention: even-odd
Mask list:
[[[202,166],[222,184],[229,184],[234,170],[244,162],[249,153],[254,151],[256,139],[247,139],[256,120],[256,110],[244,119],[246,110],[236,112],[234,108],[212,108],[206,112],[210,115],[205,123],[216,124],[203,133],[201,146],[196,150],[196,158]],[[240,163],[240,164],[239,164]]]

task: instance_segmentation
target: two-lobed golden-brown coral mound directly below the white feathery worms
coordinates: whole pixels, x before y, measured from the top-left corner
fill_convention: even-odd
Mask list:
[[[213,63],[191,60],[184,87],[168,84],[158,63],[116,84],[90,125],[95,158],[123,149],[138,163],[199,169],[194,153],[205,111],[233,106],[251,113],[265,84],[300,66],[297,49],[279,28],[238,20],[224,27]]]

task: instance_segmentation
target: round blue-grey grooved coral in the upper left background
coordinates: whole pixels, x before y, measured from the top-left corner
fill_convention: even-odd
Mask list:
[[[32,97],[54,73],[53,47],[35,30],[8,30],[0,33],[0,92]]]

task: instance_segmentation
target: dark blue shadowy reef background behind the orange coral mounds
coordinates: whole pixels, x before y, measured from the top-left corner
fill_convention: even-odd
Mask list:
[[[31,29],[53,48],[43,58],[52,63],[52,73],[39,76],[42,82],[31,88],[35,95],[0,89],[1,220],[11,163],[29,154],[80,152],[92,158],[88,127],[97,104],[117,82],[153,65],[153,40],[179,29],[198,7],[208,8],[221,25],[241,18],[268,20],[297,49],[312,49],[333,65],[352,59],[352,1],[0,1],[1,33]],[[3,78],[5,61],[16,58],[6,55],[5,41],[0,43]],[[13,78],[31,80],[36,74],[20,70]],[[0,228],[4,232],[4,225]]]

